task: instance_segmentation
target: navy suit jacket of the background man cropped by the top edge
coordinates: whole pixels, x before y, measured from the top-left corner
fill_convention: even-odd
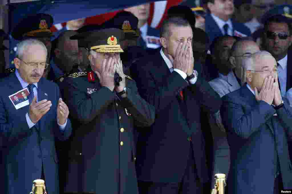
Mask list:
[[[217,36],[223,36],[219,26],[217,25],[217,23],[215,22],[215,20],[213,19],[210,13],[206,15],[205,22],[206,22],[206,33],[209,36],[210,42],[213,42],[213,40]],[[250,29],[248,29],[248,27],[246,27],[244,24],[234,22],[232,19],[231,19],[231,22],[233,26],[234,36],[236,35],[237,32],[244,34],[246,36],[251,36]]]

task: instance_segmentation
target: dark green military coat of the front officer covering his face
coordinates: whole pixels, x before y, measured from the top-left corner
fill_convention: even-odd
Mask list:
[[[127,79],[128,95],[119,101],[97,76],[89,82],[87,74],[82,75],[60,82],[74,120],[64,190],[136,194],[134,126],[151,125],[154,107],[139,96],[132,80]]]

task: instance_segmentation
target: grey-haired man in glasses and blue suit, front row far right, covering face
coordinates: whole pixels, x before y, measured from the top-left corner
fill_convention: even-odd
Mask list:
[[[220,109],[230,145],[228,193],[278,194],[292,189],[292,108],[281,97],[270,53],[258,51],[244,66],[247,84],[225,95]]]

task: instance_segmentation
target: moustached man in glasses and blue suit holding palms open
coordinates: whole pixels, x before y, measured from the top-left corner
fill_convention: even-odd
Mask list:
[[[0,125],[4,142],[6,193],[29,193],[32,181],[44,179],[49,193],[59,193],[55,138],[71,135],[69,110],[55,83],[42,78],[46,46],[27,39],[18,44],[15,73],[0,84]],[[28,88],[29,105],[16,110],[8,98]]]

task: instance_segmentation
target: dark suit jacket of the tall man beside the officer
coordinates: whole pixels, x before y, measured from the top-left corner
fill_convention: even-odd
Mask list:
[[[131,75],[141,96],[156,110],[154,124],[145,128],[138,138],[138,180],[180,182],[189,158],[191,138],[198,176],[201,182],[208,181],[199,115],[201,107],[214,113],[218,111],[219,95],[200,77],[194,85],[189,85],[177,72],[171,73],[160,52],[133,64]],[[184,106],[178,100],[182,89]]]

